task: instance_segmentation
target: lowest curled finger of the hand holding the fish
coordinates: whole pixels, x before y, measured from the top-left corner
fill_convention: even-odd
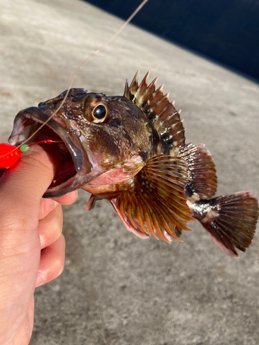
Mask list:
[[[36,286],[41,286],[61,275],[65,262],[65,239],[61,235],[56,242],[41,250]]]

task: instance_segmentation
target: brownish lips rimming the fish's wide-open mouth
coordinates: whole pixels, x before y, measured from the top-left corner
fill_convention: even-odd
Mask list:
[[[25,110],[21,110],[15,117],[14,127],[8,139],[9,143],[11,145],[18,146],[25,139],[30,137],[31,134],[33,134],[35,131],[33,130],[33,126],[32,130],[29,128],[28,133],[24,134],[24,132],[26,132],[26,127],[30,126],[28,125],[28,121],[33,120],[35,121],[35,124],[43,124],[49,118],[50,115],[41,110],[41,108],[30,107],[26,108]],[[62,124],[59,124],[58,121]],[[46,126],[48,126],[48,128],[55,132],[61,138],[61,140],[64,141],[64,144],[66,145],[66,148],[68,148],[68,151],[73,159],[76,174],[73,178],[68,179],[61,185],[56,186],[55,188],[48,188],[44,194],[44,197],[60,197],[71,190],[77,189],[77,185],[80,183],[80,181],[92,171],[92,166],[90,164],[87,152],[83,147],[81,140],[77,134],[75,134],[75,130],[73,130],[71,126],[68,128],[69,124],[70,122],[66,121],[63,117],[55,117],[55,119],[50,119]],[[64,128],[62,125],[66,126],[67,128]],[[34,141],[37,141],[37,134]]]

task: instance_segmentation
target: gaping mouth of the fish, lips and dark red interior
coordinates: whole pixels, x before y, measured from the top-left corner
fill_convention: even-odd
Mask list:
[[[21,110],[15,117],[14,128],[8,139],[9,143],[19,146],[49,118],[50,115],[41,108],[31,107]],[[46,139],[58,141],[55,144],[59,148],[57,154],[63,156],[61,165],[57,168],[55,177],[44,197],[61,197],[88,183],[86,175],[92,171],[92,166],[80,139],[81,131],[73,127],[75,125],[72,121],[55,115],[29,141],[26,141],[26,144]]]

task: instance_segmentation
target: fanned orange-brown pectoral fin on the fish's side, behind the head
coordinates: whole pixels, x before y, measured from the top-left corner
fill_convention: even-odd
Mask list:
[[[175,226],[180,235],[180,229],[189,230],[186,223],[195,220],[186,204],[186,184],[184,159],[159,155],[147,161],[130,190],[110,201],[126,228],[135,235],[159,235],[166,242],[171,237],[180,240]]]

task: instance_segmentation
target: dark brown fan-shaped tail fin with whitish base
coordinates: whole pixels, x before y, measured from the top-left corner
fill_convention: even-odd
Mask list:
[[[199,200],[190,205],[218,248],[230,257],[238,257],[235,248],[246,251],[258,221],[258,201],[252,190]]]

